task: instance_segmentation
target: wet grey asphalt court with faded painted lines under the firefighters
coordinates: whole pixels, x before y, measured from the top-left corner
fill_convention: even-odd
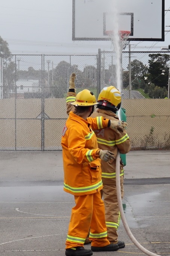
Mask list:
[[[74,200],[63,191],[62,153],[0,151],[0,162],[0,255],[65,255]],[[131,151],[126,162],[127,224],[144,248],[170,255],[170,151]],[[93,255],[143,254],[122,222],[118,233],[125,248]]]

